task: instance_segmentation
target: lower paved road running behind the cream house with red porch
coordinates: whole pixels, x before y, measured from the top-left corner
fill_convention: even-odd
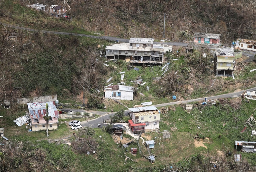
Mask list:
[[[247,89],[247,91],[255,91],[255,90],[256,90],[256,87],[251,88],[251,89]],[[243,92],[244,92],[244,90],[243,91],[238,91],[238,92],[233,92],[233,93],[228,93],[228,94],[222,94],[222,95],[218,95],[218,96],[211,96],[211,97],[207,97],[207,99],[213,100],[213,99],[221,99],[221,98],[236,98],[236,97],[240,97]],[[163,103],[163,104],[158,104],[158,105],[153,105],[153,106],[163,107],[163,106],[177,105],[177,104],[182,104],[182,103],[203,102],[204,99],[205,99],[205,97],[198,98],[198,99],[184,100],[184,101],[174,101],[174,102]],[[115,113],[107,113],[107,114],[104,114],[104,115],[100,116],[99,118],[92,119],[92,120],[89,120],[89,121],[83,121],[83,122],[81,122],[81,125],[83,127],[87,126],[87,127],[97,128],[98,124],[101,124],[101,127],[102,127],[104,125],[103,120],[104,119],[109,119],[109,116],[110,115],[113,116]],[[129,113],[129,110],[125,110],[125,116],[128,116],[129,115],[128,113]]]

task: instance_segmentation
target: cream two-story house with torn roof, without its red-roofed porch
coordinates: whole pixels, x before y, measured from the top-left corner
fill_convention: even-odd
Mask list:
[[[145,129],[159,128],[160,113],[155,106],[129,108],[129,110],[134,124],[145,123]]]

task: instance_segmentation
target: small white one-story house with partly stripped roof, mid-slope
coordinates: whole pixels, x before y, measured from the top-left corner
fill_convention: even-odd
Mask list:
[[[104,97],[117,100],[133,100],[134,88],[126,85],[110,85],[104,88]]]

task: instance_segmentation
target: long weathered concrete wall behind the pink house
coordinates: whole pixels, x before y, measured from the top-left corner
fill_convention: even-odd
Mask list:
[[[54,102],[58,98],[58,95],[50,95],[50,96],[39,96],[33,98],[20,98],[17,99],[17,103],[19,104],[26,104],[26,103],[33,103],[33,102]]]

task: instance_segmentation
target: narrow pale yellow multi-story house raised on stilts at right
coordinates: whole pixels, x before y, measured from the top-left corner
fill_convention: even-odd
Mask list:
[[[233,48],[216,49],[216,76],[233,76],[235,52]]]

